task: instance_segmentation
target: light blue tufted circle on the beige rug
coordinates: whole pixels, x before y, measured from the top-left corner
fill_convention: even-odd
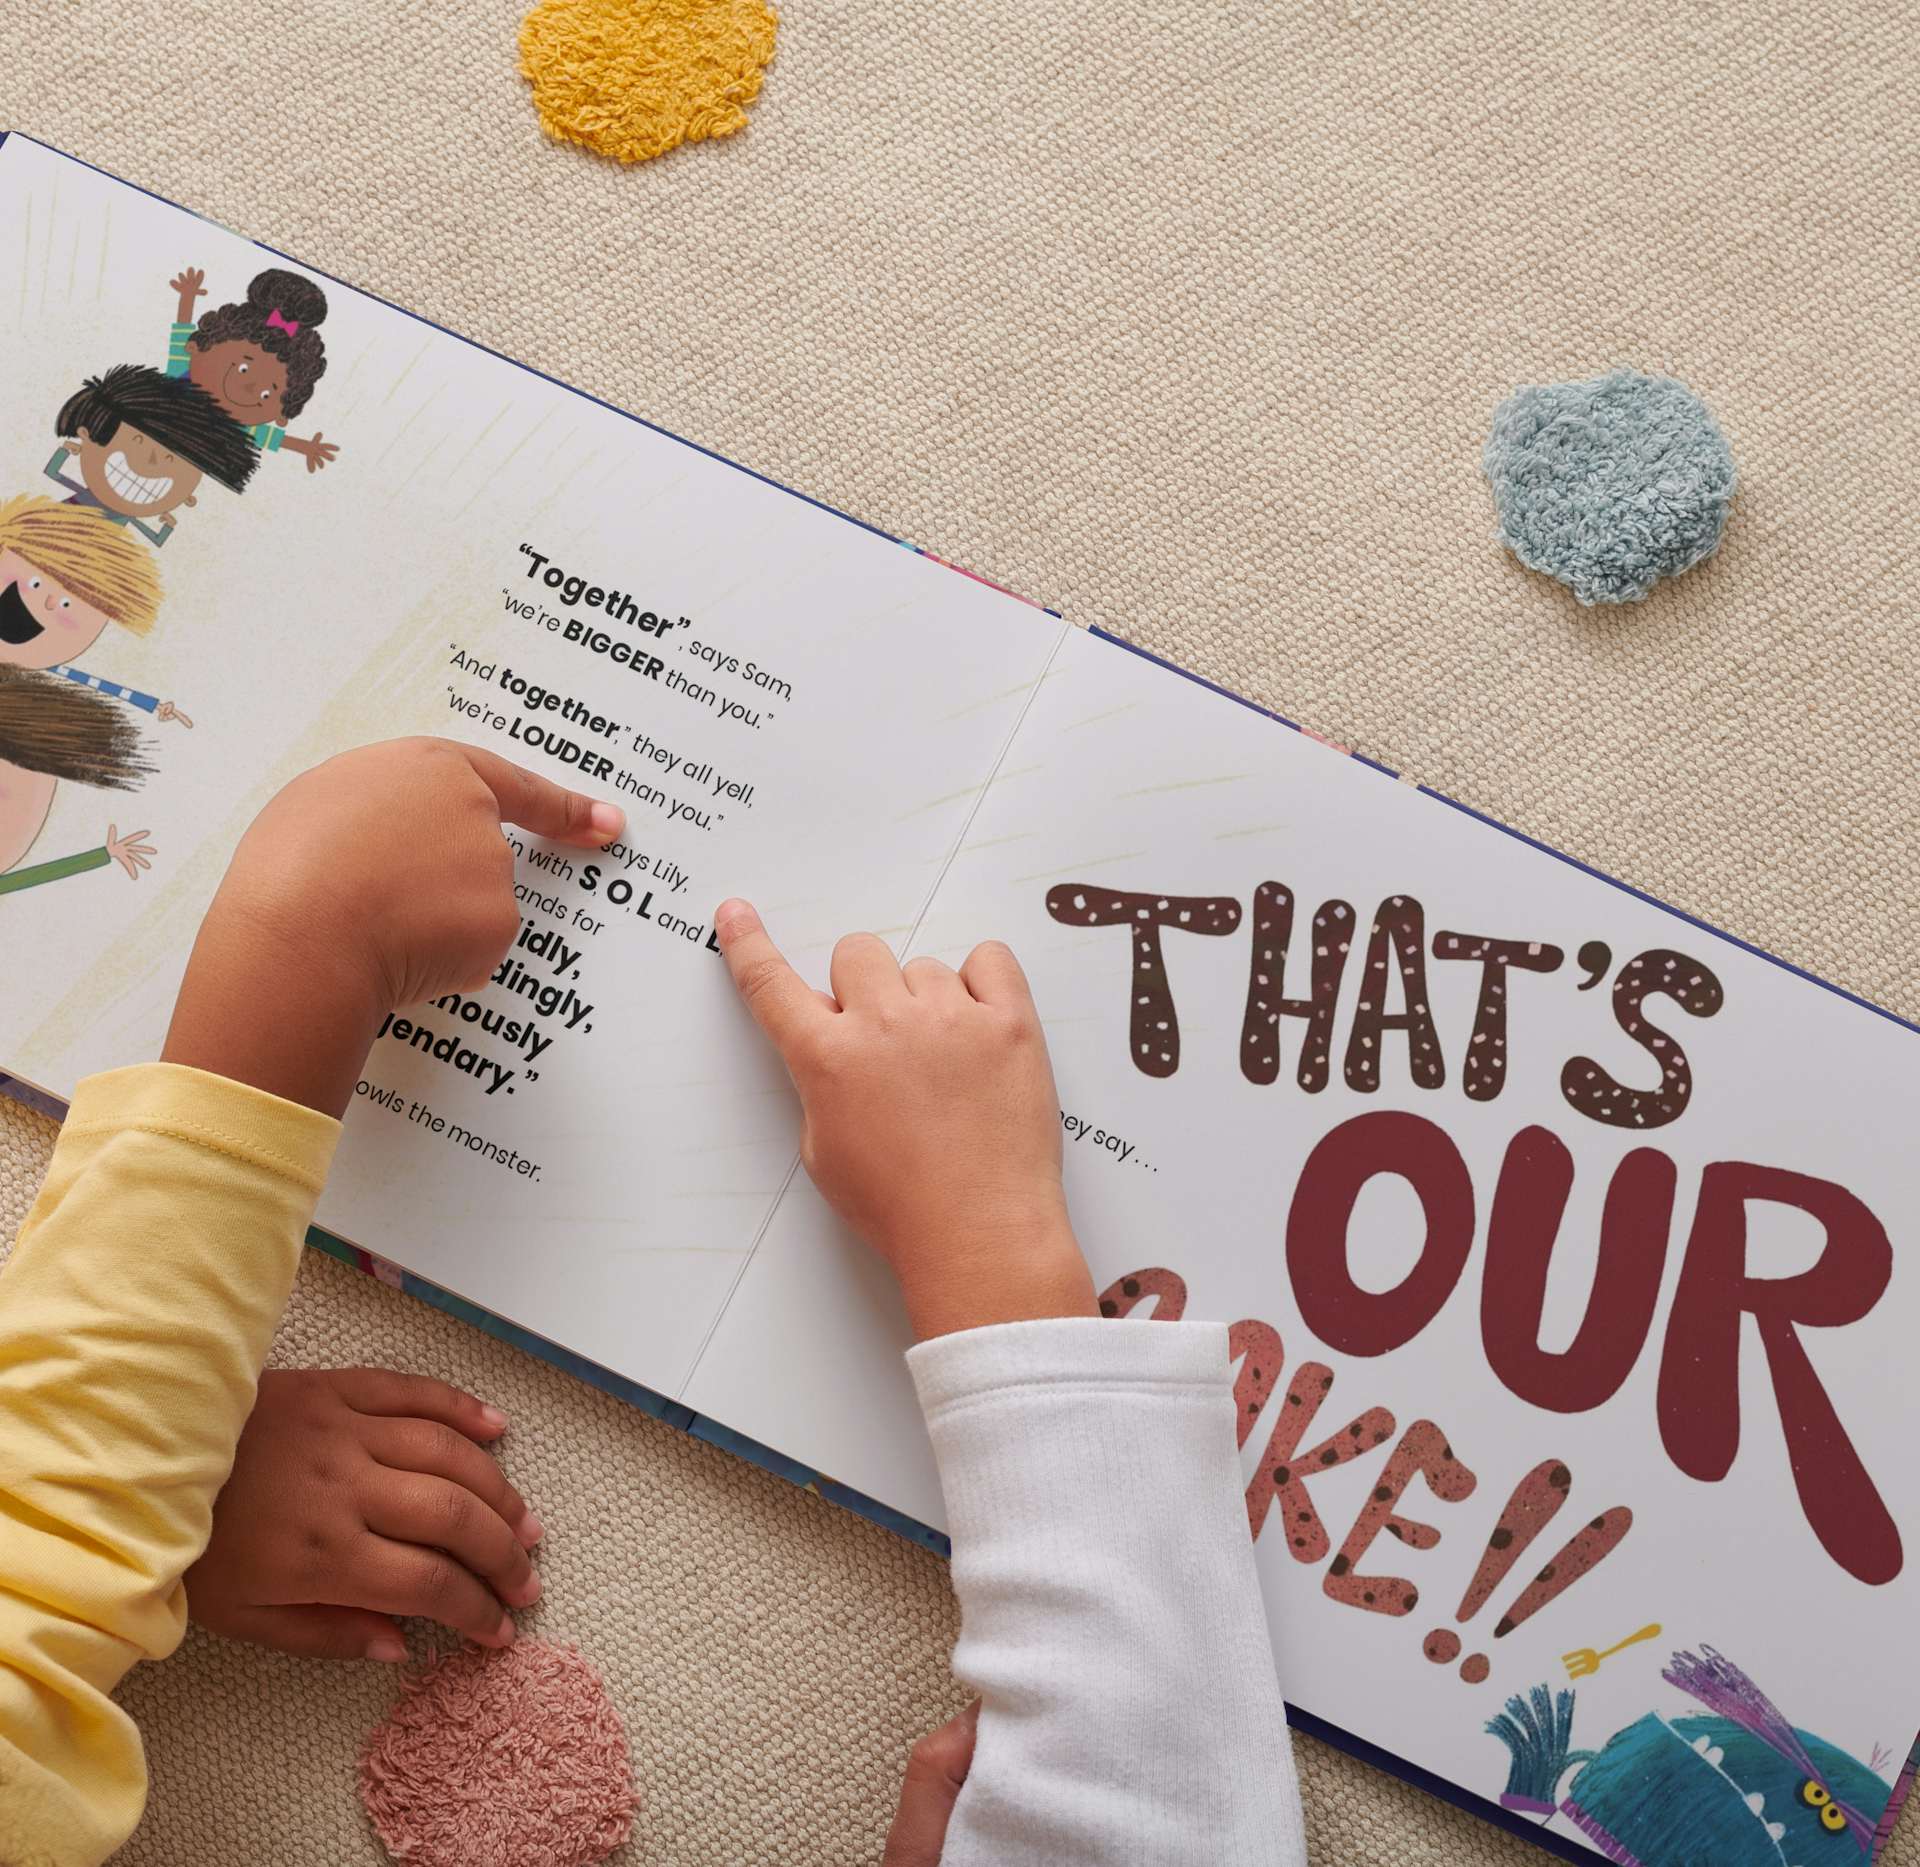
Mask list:
[[[1711,557],[1736,480],[1707,403],[1634,369],[1515,390],[1484,467],[1501,544],[1582,603],[1638,603]]]

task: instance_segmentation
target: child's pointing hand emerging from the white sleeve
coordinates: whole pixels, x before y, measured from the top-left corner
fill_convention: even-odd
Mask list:
[[[780,957],[745,901],[720,951],[801,1091],[801,1160],[900,1279],[922,1339],[1092,1316],[1060,1185],[1060,1103],[1020,960],[975,947],[902,970],[872,934],[833,949],[833,997]]]

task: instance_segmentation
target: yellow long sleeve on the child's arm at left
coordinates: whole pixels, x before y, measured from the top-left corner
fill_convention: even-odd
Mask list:
[[[0,1273],[0,1861],[140,1819],[109,1698],[186,1627],[340,1124],[200,1070],[88,1078]]]

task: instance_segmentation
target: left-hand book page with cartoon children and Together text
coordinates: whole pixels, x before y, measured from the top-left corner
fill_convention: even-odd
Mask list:
[[[0,1068],[157,1055],[240,832],[344,747],[612,797],[374,1045],[321,1224],[674,1393],[797,1143],[714,905],[816,983],[902,945],[1064,624],[17,134],[0,252]]]

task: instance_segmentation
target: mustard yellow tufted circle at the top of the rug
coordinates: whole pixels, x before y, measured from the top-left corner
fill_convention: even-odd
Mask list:
[[[776,21],[764,0],[540,0],[520,75],[549,136],[645,161],[747,127]]]

